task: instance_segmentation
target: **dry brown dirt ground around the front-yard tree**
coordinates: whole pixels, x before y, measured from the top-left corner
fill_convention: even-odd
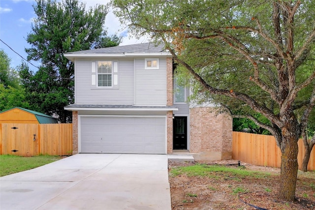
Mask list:
[[[195,162],[168,162],[168,170]],[[214,161],[238,168],[238,161]],[[266,178],[242,179],[169,176],[173,210],[315,210],[315,172],[299,171],[296,185],[296,201],[277,199],[280,169],[241,163],[242,170],[269,172]],[[241,170],[241,169],[240,169]],[[235,189],[245,192],[233,192]]]

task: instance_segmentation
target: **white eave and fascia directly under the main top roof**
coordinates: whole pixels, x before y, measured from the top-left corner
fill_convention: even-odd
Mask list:
[[[172,54],[169,52],[160,52],[160,53],[65,53],[63,56],[71,61],[74,61],[75,58],[109,58],[109,57],[172,57]]]

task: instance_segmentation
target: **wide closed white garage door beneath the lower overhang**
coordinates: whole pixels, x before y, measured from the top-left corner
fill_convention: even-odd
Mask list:
[[[80,117],[82,153],[166,153],[165,117]]]

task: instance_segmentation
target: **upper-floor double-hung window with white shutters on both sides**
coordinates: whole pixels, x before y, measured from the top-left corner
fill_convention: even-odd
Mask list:
[[[118,88],[118,62],[111,60],[92,61],[92,87]]]

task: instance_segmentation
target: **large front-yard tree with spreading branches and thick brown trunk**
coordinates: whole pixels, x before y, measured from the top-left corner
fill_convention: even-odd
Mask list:
[[[211,98],[275,136],[282,152],[279,198],[293,201],[297,142],[315,106],[315,1],[112,3],[131,32],[165,43],[180,74],[192,76],[195,98]],[[306,145],[312,149],[314,142]]]

